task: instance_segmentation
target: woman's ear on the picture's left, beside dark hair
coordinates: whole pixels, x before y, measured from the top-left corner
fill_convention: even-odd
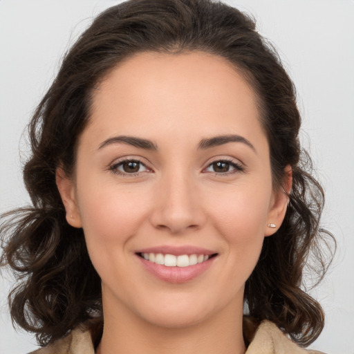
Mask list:
[[[57,167],[55,182],[57,183],[59,194],[62,197],[62,202],[66,210],[66,221],[73,227],[82,227],[73,179],[66,175],[62,167]]]

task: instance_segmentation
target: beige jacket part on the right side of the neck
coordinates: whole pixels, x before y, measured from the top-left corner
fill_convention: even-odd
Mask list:
[[[324,354],[319,351],[306,350],[295,342],[270,321],[263,321],[257,328],[254,338],[246,354]]]

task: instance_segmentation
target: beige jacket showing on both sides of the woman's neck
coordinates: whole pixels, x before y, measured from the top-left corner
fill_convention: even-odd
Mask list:
[[[95,354],[93,339],[89,330],[76,328],[54,344],[30,354]],[[269,321],[263,321],[245,354],[321,354],[300,348]],[[322,353],[323,354],[323,353]]]

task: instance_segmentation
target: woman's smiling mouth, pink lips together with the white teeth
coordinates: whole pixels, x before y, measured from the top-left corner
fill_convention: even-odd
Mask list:
[[[145,270],[162,281],[184,283],[203,274],[216,252],[194,246],[145,248],[136,252]]]

